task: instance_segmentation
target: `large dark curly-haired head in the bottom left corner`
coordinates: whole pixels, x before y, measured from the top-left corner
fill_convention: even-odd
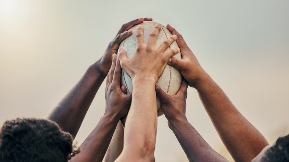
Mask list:
[[[0,132],[2,162],[67,162],[74,155],[73,139],[45,119],[6,121]]]

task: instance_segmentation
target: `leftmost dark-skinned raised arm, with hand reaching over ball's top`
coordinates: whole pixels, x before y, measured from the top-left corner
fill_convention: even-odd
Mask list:
[[[80,81],[55,106],[48,119],[57,122],[63,131],[69,132],[73,137],[76,136],[98,88],[110,69],[112,54],[116,53],[120,43],[132,34],[131,30],[127,31],[127,29],[143,21],[152,21],[152,19],[140,18],[123,24],[102,57],[88,68]]]

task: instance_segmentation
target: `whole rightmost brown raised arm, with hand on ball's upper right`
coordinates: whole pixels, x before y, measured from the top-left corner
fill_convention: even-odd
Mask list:
[[[183,37],[171,26],[167,25],[167,28],[178,36],[177,43],[182,53],[182,59],[172,57],[168,64],[179,68],[188,85],[197,89],[214,127],[234,160],[251,161],[268,142],[203,70]]]

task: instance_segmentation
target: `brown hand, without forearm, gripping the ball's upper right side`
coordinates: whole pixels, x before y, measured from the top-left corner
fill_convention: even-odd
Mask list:
[[[168,61],[168,64],[174,66],[181,70],[182,76],[188,81],[190,87],[196,88],[196,83],[200,81],[204,76],[207,76],[207,73],[203,70],[199,64],[196,56],[191,51],[191,49],[186,44],[182,35],[172,28],[170,25],[167,25],[166,28],[172,33],[178,36],[176,40],[182,54],[182,59],[171,57]]]

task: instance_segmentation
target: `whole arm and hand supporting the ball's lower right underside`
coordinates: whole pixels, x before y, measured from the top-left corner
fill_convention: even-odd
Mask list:
[[[215,152],[200,136],[186,118],[186,98],[188,82],[183,79],[176,95],[167,95],[158,85],[156,94],[160,98],[163,113],[168,119],[169,128],[176,135],[190,162],[224,162],[224,157]]]

